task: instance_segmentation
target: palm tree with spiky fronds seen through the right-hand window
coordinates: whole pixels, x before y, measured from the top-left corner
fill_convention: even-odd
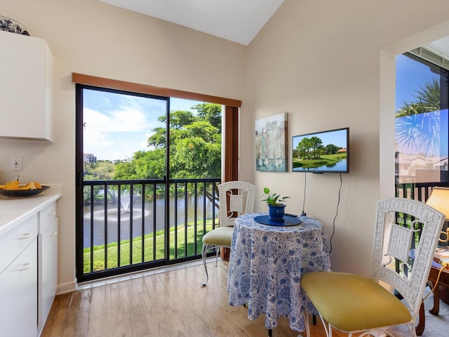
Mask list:
[[[434,79],[416,91],[414,102],[404,102],[396,112],[396,143],[414,154],[432,157],[440,148],[440,84]]]

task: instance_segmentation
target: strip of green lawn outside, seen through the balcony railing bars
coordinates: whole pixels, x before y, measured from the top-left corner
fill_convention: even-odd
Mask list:
[[[215,222],[216,223],[216,222]],[[212,220],[206,221],[206,231],[212,229]],[[150,262],[155,260],[163,260],[165,258],[165,231],[160,230],[155,234],[147,234],[143,237],[145,251],[142,258],[142,237],[136,237],[132,241],[129,239],[122,240],[120,245],[117,242],[107,244],[107,267],[105,266],[105,245],[94,246],[93,248],[93,271],[112,269],[119,267],[119,250],[120,250],[120,266]],[[177,247],[175,250],[175,234],[177,235]],[[187,253],[185,247],[185,235],[187,234]],[[203,223],[196,225],[196,235],[194,225],[187,225],[187,233],[184,225],[170,228],[170,259],[184,258],[188,256],[196,256],[201,254],[201,238],[203,237]],[[195,251],[196,242],[196,251]],[[132,246],[133,260],[130,260],[130,247]],[[91,272],[91,249],[83,251],[83,273]]]

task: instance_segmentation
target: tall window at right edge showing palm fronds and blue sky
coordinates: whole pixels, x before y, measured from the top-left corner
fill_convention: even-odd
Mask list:
[[[396,184],[449,181],[448,79],[414,53],[396,58]]]

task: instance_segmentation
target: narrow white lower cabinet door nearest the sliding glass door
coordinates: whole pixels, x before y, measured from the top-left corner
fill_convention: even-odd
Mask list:
[[[47,320],[58,288],[58,217],[56,202],[39,212],[38,329]]]

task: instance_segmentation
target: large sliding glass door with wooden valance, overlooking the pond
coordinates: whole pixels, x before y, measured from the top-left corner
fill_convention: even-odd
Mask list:
[[[201,237],[217,221],[222,105],[225,179],[238,178],[239,108],[226,104],[239,101],[73,80],[79,282],[199,258]],[[186,100],[196,113],[177,105]]]

